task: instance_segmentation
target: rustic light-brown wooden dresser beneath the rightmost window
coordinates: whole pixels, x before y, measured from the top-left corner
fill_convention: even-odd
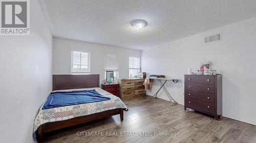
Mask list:
[[[145,95],[144,78],[119,79],[121,98]]]

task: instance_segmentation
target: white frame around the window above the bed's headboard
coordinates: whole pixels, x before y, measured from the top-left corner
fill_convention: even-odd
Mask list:
[[[80,70],[79,71],[74,71],[73,70],[73,52],[82,52],[82,53],[88,53],[89,55],[89,58],[88,58],[88,66],[89,66],[89,71],[82,71],[81,70],[81,68],[80,68]],[[71,54],[71,63],[70,63],[70,72],[72,73],[72,74],[79,74],[79,73],[81,73],[81,74],[90,74],[91,73],[91,52],[89,52],[89,51],[84,51],[84,50],[75,50],[75,49],[71,49],[70,50],[70,54]]]

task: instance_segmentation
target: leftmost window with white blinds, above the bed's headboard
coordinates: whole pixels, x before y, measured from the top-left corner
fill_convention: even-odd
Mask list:
[[[90,73],[90,52],[72,51],[71,56],[71,72]]]

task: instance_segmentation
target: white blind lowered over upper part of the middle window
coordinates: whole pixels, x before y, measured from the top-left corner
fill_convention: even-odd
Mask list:
[[[118,71],[118,56],[106,54],[105,55],[105,70]]]

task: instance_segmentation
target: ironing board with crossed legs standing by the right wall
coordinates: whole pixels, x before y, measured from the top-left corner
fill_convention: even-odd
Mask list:
[[[159,88],[159,90],[158,90],[152,97],[156,96],[156,98],[157,98],[158,92],[163,88],[164,92],[165,92],[166,95],[169,97],[170,101],[172,102],[172,105],[178,104],[178,103],[172,98],[172,96],[170,96],[169,92],[168,92],[167,89],[164,87],[164,84],[165,84],[168,80],[173,80],[174,83],[177,83],[177,82],[179,81],[179,79],[152,78],[152,77],[150,77],[150,79],[157,79],[157,80],[160,82],[160,84],[161,84],[161,87]],[[162,81],[162,80],[164,80],[164,81]],[[151,97],[151,98],[152,98],[152,97]]]

